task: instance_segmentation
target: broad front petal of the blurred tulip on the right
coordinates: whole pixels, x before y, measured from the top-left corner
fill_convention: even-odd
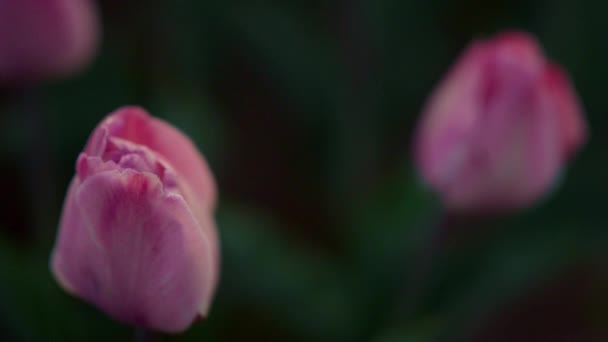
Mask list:
[[[520,70],[523,71],[523,70]],[[531,204],[559,170],[558,130],[534,80],[517,69],[500,88],[471,135],[467,162],[442,189],[453,210],[512,209]]]

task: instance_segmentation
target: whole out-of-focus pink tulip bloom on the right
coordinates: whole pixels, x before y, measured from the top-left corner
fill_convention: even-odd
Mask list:
[[[511,210],[546,193],[586,136],[565,72],[508,32],[464,51],[424,108],[415,154],[448,209]]]

